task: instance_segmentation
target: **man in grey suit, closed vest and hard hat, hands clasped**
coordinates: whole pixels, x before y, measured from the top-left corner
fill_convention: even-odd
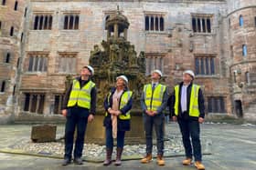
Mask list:
[[[141,106],[144,112],[144,131],[146,139],[146,155],[141,159],[142,164],[152,160],[153,127],[155,127],[157,143],[157,164],[165,165],[164,160],[164,120],[163,113],[167,104],[167,87],[160,84],[162,77],[160,70],[154,70],[151,74],[151,83],[144,85],[141,97]]]

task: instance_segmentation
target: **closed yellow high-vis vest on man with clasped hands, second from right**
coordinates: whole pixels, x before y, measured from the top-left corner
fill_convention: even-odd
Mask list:
[[[157,108],[162,105],[165,90],[166,86],[161,84],[155,86],[154,92],[151,84],[144,85],[144,103],[147,110],[157,111]]]

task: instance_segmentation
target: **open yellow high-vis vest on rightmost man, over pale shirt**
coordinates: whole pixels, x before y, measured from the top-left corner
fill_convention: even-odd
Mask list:
[[[200,86],[192,85],[191,87],[191,95],[190,95],[190,104],[189,104],[189,115],[193,117],[198,117],[200,115],[198,108],[198,93]],[[179,108],[179,85],[175,86],[175,95],[176,95],[176,103],[175,103],[175,114],[178,115]]]

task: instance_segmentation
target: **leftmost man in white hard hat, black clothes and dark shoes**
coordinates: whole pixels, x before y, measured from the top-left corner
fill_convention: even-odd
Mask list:
[[[80,76],[72,81],[62,105],[62,115],[66,116],[65,155],[62,165],[69,165],[72,159],[73,139],[77,128],[77,138],[73,153],[74,163],[82,165],[84,135],[88,122],[96,113],[96,86],[91,81],[94,70],[90,65],[82,67]]]

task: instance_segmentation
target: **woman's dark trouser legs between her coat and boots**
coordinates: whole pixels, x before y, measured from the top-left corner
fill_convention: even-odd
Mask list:
[[[125,131],[117,131],[116,146],[123,148]],[[113,147],[112,127],[106,127],[106,147]]]

